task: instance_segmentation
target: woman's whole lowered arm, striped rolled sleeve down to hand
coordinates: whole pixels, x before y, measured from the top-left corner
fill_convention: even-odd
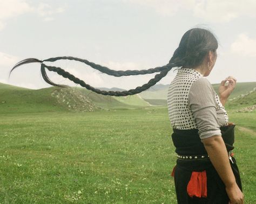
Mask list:
[[[212,92],[211,83],[206,78],[198,79],[193,83],[188,96],[188,105],[197,123],[199,137],[215,170],[226,186],[228,198],[231,200],[230,203],[241,204],[243,194],[235,182],[218,124],[215,94]]]

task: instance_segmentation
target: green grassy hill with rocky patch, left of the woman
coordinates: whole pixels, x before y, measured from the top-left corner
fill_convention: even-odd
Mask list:
[[[136,108],[150,104],[138,95],[112,97],[83,88],[50,87],[38,90],[0,83],[0,113],[45,111],[96,111]]]

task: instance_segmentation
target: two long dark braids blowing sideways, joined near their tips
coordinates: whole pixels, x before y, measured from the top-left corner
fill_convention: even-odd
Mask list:
[[[68,60],[75,60],[75,61],[80,61],[83,62],[86,65],[91,66],[92,68],[97,69],[100,72],[112,75],[112,76],[129,76],[129,75],[139,75],[139,74],[152,74],[155,72],[160,72],[159,74],[156,74],[156,76],[154,76],[153,79],[149,80],[149,82],[145,83],[144,85],[142,85],[141,87],[137,87],[135,89],[130,89],[127,91],[123,91],[123,92],[113,92],[113,91],[105,91],[105,90],[99,90],[96,89],[88,84],[86,84],[83,80],[80,80],[78,78],[76,78],[74,75],[70,74],[69,72],[66,72],[64,69],[60,68],[60,67],[54,67],[54,66],[48,66],[45,65],[43,62],[44,61],[57,61],[57,60],[61,60],[61,59],[68,59]],[[158,81],[160,81],[162,78],[164,78],[164,76],[166,76],[166,74],[172,69],[172,67],[177,67],[176,64],[172,63],[172,59],[170,60],[169,64],[162,66],[162,67],[156,67],[156,68],[151,68],[151,69],[144,69],[144,70],[127,70],[127,71],[115,71],[112,69],[109,69],[107,67],[103,67],[100,65],[97,65],[93,62],[90,62],[88,60],[84,60],[84,59],[79,59],[79,58],[73,58],[73,57],[57,57],[57,58],[49,58],[46,60],[38,60],[38,59],[34,59],[34,58],[29,58],[29,59],[25,59],[22,60],[21,62],[18,62],[10,71],[11,72],[17,68],[18,66],[24,65],[24,64],[28,64],[28,63],[32,63],[32,62],[39,62],[41,63],[41,73],[43,76],[43,79],[45,82],[49,83],[52,86],[59,86],[59,87],[67,87],[65,85],[57,85],[56,83],[52,82],[48,75],[46,74],[45,68],[48,69],[49,71],[52,72],[56,72],[57,74],[63,76],[64,78],[68,78],[69,80],[73,81],[74,83],[79,84],[82,87],[85,87],[86,89],[92,90],[93,92],[96,92],[97,94],[102,94],[102,95],[111,95],[111,96],[127,96],[127,95],[134,95],[134,94],[138,94],[140,92],[143,92],[146,89],[149,89],[151,86],[155,85]],[[178,63],[180,64],[180,63]],[[9,75],[10,76],[10,75]]]

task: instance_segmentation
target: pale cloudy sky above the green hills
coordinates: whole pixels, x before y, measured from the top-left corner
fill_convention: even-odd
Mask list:
[[[256,81],[255,11],[254,0],[0,0],[0,82],[49,87],[39,64],[18,67],[8,79],[12,66],[25,58],[72,56],[116,70],[163,66],[183,34],[196,26],[210,29],[219,41],[207,77],[211,83],[230,75],[237,82]],[[80,62],[54,65],[95,87],[131,89],[154,76],[116,78]],[[169,84],[174,75],[160,83]],[[75,86],[56,73],[49,76]]]

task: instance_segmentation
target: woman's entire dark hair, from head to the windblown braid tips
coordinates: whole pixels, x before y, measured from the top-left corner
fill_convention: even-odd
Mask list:
[[[92,90],[93,92],[96,92],[98,94],[103,95],[112,95],[112,96],[127,96],[127,95],[133,95],[138,94],[140,92],[143,92],[146,89],[149,89],[151,86],[155,85],[158,81],[160,81],[166,74],[173,68],[173,67],[188,67],[193,68],[196,66],[199,66],[208,51],[215,52],[218,48],[218,42],[217,39],[214,37],[212,32],[201,29],[201,28],[193,28],[188,30],[184,33],[183,37],[180,40],[179,47],[174,51],[173,56],[169,63],[162,67],[156,67],[151,69],[144,69],[144,70],[127,70],[127,71],[114,71],[112,69],[109,69],[107,67],[103,67],[97,64],[94,64],[93,62],[90,62],[88,60],[79,59],[79,58],[73,58],[73,57],[57,57],[57,58],[49,58],[46,60],[38,60],[35,58],[29,58],[22,60],[18,62],[10,71],[11,72],[17,68],[18,66],[32,63],[32,62],[39,62],[41,63],[41,73],[43,76],[43,79],[53,86],[59,86],[59,87],[66,87],[65,85],[57,85],[56,83],[52,82],[48,75],[46,74],[45,68],[52,72],[57,72],[59,75],[62,75],[64,78],[68,78],[69,80],[78,83],[80,86],[85,87],[86,89]],[[106,92],[105,90],[99,90],[94,87],[91,87],[90,85],[87,85],[83,80],[80,80],[70,74],[69,72],[66,72],[64,69],[59,67],[53,67],[45,65],[43,62],[45,61],[57,61],[57,60],[76,60],[83,62],[86,65],[91,66],[92,68],[97,69],[100,72],[112,75],[112,76],[129,76],[129,75],[139,75],[139,74],[152,74],[155,72],[160,72],[159,74],[156,74],[153,79],[151,79],[149,82],[145,83],[141,87],[137,87],[135,89],[130,89],[124,92]],[[9,75],[10,76],[10,75]]]

